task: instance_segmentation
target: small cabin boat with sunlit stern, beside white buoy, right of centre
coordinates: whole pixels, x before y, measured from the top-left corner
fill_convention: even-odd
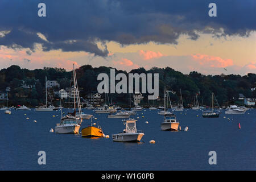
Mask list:
[[[161,123],[161,130],[177,131],[180,123],[176,121],[175,114],[164,115],[164,122]]]

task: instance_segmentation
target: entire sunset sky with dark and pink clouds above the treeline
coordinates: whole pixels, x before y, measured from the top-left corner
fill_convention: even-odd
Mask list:
[[[46,17],[38,4],[46,4]],[[217,5],[210,17],[209,3]],[[0,2],[0,69],[127,72],[171,67],[204,75],[256,73],[256,1]]]

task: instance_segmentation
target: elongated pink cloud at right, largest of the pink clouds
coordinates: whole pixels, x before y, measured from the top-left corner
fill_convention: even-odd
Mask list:
[[[197,61],[200,65],[208,65],[214,68],[225,68],[234,65],[231,59],[222,59],[221,57],[201,55],[197,53],[196,55],[191,55],[193,60]]]

